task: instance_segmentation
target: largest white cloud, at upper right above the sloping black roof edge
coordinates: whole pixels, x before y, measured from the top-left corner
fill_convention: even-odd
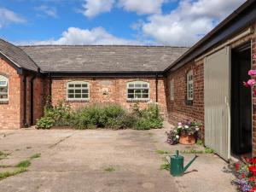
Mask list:
[[[143,35],[159,44],[190,46],[207,34],[216,22],[245,0],[183,0],[168,15],[151,15],[143,23]]]

